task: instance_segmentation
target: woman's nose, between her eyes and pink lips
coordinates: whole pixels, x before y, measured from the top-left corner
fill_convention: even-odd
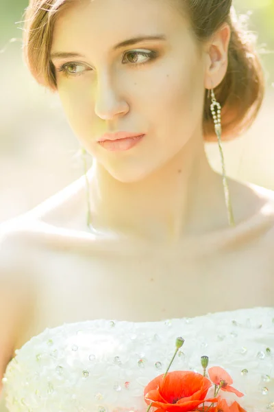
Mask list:
[[[95,114],[103,120],[112,120],[118,115],[125,115],[129,106],[114,87],[114,81],[108,74],[98,79],[95,95]]]

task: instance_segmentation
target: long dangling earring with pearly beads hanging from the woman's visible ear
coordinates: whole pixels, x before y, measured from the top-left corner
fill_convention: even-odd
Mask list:
[[[208,94],[210,91],[208,91]],[[215,128],[215,133],[218,137],[218,145],[219,145],[219,150],[221,154],[221,163],[222,163],[222,174],[223,174],[223,188],[225,191],[225,205],[227,207],[227,215],[228,215],[228,220],[229,220],[229,225],[230,226],[235,226],[235,220],[234,220],[234,215],[232,211],[232,203],[231,203],[231,198],[229,194],[229,188],[227,184],[227,176],[225,173],[225,161],[223,158],[223,148],[222,148],[222,141],[221,141],[221,134],[222,134],[222,126],[221,126],[221,104],[216,101],[214,90],[211,89],[211,105],[210,105],[210,110],[212,112],[212,117],[213,117],[213,122],[214,122],[214,128]],[[215,110],[216,108],[216,110]],[[216,113],[217,111],[217,113]]]

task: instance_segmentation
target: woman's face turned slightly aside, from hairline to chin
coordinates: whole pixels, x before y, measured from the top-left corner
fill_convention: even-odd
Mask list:
[[[75,3],[55,23],[56,52],[79,55],[52,57],[58,94],[82,146],[115,179],[138,181],[163,168],[201,128],[203,62],[173,1]],[[99,144],[116,131],[145,136],[129,150]]]

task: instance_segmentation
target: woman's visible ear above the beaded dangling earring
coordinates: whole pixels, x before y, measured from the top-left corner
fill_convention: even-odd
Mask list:
[[[228,65],[228,46],[231,29],[224,23],[219,30],[206,43],[206,64],[204,86],[206,89],[214,89],[225,77]]]

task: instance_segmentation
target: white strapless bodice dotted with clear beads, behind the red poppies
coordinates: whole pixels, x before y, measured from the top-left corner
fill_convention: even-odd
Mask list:
[[[25,343],[3,378],[9,411],[146,411],[143,390],[170,371],[202,373],[210,358],[245,393],[249,412],[274,410],[274,308],[218,312],[158,322],[82,321],[46,329]],[[235,396],[234,393],[231,396]]]

